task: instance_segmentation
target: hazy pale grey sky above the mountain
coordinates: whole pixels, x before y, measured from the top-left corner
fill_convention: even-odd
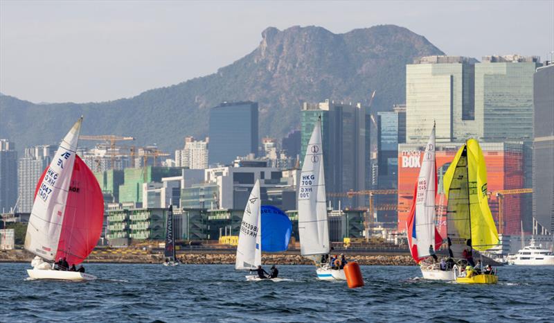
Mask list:
[[[449,55],[554,51],[554,0],[6,1],[0,92],[33,102],[108,101],[214,73],[267,26],[333,33],[396,24]]]

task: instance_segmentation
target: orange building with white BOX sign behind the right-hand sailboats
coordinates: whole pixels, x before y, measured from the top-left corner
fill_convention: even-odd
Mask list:
[[[524,188],[524,157],[521,143],[480,143],[487,165],[488,191]],[[461,147],[461,143],[437,143],[438,189],[436,197],[438,227],[446,236],[446,198],[443,194],[443,175]],[[398,230],[406,230],[407,220],[417,181],[425,143],[401,143],[398,146]],[[494,195],[494,194],[492,194]],[[499,219],[496,196],[490,197],[489,207],[494,221]],[[521,221],[521,195],[506,195],[502,202],[503,234],[519,234]]]

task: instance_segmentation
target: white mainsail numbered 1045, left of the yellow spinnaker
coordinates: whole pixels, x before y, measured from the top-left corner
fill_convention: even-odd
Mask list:
[[[435,247],[435,195],[436,195],[435,127],[425,148],[418,188],[415,196],[415,237],[418,257],[429,256],[429,245]]]

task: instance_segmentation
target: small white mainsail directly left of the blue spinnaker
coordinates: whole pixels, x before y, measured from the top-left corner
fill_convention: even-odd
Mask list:
[[[242,215],[235,269],[253,269],[262,264],[260,207],[260,182],[256,180]]]

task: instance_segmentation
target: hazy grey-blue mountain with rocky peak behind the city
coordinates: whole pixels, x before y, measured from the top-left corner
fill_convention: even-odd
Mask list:
[[[260,45],[201,78],[151,89],[133,98],[102,103],[35,104],[0,96],[0,138],[18,149],[57,143],[84,115],[82,134],[120,134],[136,144],[157,143],[171,152],[184,137],[204,137],[208,110],[222,101],[257,101],[260,136],[279,139],[300,125],[300,102],[368,103],[390,110],[405,101],[405,64],[422,55],[443,55],[406,28],[385,25],[334,34],[325,28],[269,27]],[[194,62],[188,62],[194,64]]]

